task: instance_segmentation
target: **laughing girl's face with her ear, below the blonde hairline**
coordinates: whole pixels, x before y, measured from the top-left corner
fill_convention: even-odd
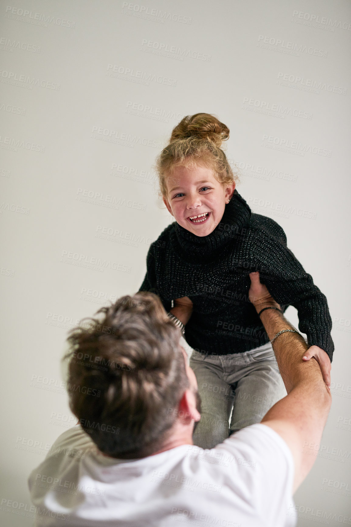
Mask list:
[[[222,219],[235,182],[224,187],[211,169],[176,167],[163,201],[176,222],[196,236],[209,235]]]

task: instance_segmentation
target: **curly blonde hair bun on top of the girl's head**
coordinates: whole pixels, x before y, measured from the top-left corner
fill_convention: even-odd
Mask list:
[[[172,130],[170,141],[196,137],[212,141],[217,148],[229,138],[229,128],[210,113],[186,115]]]

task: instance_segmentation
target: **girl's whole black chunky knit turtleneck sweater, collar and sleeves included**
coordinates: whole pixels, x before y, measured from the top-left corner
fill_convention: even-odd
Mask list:
[[[308,345],[324,349],[332,360],[325,295],[287,248],[282,227],[252,213],[236,190],[213,232],[199,237],[173,222],[151,244],[146,265],[139,291],[155,292],[167,311],[176,298],[192,300],[185,339],[200,353],[246,352],[269,341],[248,300],[249,272],[259,271],[260,281],[284,310],[296,307]]]

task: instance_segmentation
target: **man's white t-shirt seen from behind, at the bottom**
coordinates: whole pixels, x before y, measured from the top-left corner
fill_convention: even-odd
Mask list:
[[[211,450],[181,445],[138,460],[104,456],[76,425],[28,483],[37,527],[293,527],[293,478],[292,453],[264,424]]]

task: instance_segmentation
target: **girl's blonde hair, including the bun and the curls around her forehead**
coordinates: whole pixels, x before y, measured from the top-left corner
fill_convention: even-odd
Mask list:
[[[210,113],[186,115],[172,130],[169,144],[156,159],[156,171],[162,196],[167,196],[167,178],[175,167],[198,166],[213,170],[223,185],[238,179],[224,151],[220,148],[229,138],[229,128]]]

